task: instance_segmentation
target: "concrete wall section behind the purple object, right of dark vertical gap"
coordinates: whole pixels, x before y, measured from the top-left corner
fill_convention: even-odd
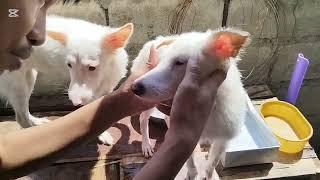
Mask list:
[[[229,26],[253,34],[253,43],[241,63],[248,85],[268,84],[284,99],[297,54],[311,59],[296,106],[312,123],[312,144],[320,152],[320,1],[233,0]]]

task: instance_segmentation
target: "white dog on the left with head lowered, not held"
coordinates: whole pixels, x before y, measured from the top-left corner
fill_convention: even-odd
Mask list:
[[[0,95],[13,106],[17,122],[27,128],[48,122],[29,112],[29,98],[38,73],[43,73],[46,84],[67,85],[71,80],[68,95],[76,106],[108,94],[126,75],[128,55],[124,47],[132,31],[132,24],[109,28],[48,16],[45,44],[34,47],[31,57],[19,70],[0,76]],[[107,132],[99,139],[105,144],[113,143]]]

